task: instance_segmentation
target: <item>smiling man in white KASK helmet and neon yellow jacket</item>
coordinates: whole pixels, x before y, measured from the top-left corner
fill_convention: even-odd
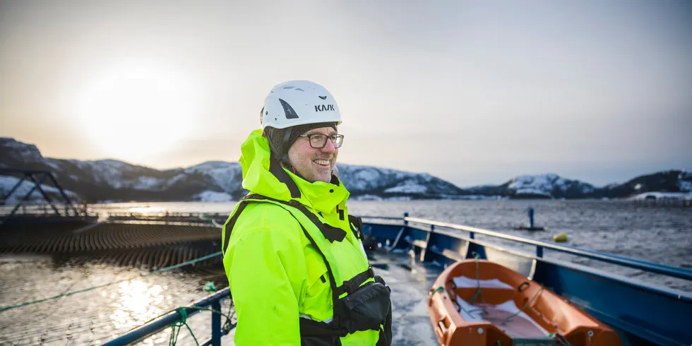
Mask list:
[[[309,81],[281,83],[260,118],[241,145],[250,193],[222,235],[235,344],[390,345],[390,290],[333,174],[343,143],[333,96]]]

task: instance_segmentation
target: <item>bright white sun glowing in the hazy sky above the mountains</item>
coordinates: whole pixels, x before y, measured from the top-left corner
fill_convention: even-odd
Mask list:
[[[188,80],[148,66],[114,68],[78,98],[80,127],[109,156],[137,161],[190,133],[196,90]]]

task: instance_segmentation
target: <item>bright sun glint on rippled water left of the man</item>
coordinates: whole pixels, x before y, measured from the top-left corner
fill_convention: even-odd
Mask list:
[[[147,287],[139,279],[120,282],[117,293],[111,294],[115,311],[110,316],[116,329],[129,330],[166,312],[160,304],[165,297],[160,285]]]

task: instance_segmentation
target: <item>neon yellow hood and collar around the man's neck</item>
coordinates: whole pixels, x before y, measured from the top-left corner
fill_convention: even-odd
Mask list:
[[[324,181],[311,183],[293,174],[290,170],[278,166],[278,162],[271,162],[270,157],[269,141],[262,136],[262,130],[252,131],[241,145],[240,163],[243,167],[244,189],[280,201],[296,199],[300,203],[323,213],[334,210],[340,203],[345,203],[350,196],[349,191],[338,177],[333,176],[329,183]],[[271,167],[271,165],[275,166]],[[300,197],[292,198],[289,186],[271,172],[270,168],[285,172],[287,177],[290,177],[298,187]],[[284,177],[286,176],[284,175]]]

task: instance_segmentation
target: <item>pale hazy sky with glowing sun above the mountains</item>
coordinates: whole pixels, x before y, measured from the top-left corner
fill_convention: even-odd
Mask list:
[[[338,162],[462,187],[692,168],[692,1],[0,4],[0,136],[45,157],[237,161],[270,88],[308,79]]]

